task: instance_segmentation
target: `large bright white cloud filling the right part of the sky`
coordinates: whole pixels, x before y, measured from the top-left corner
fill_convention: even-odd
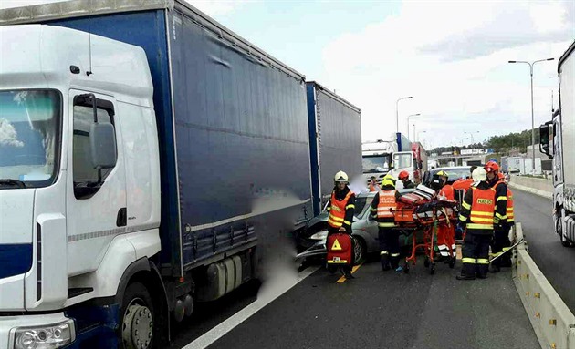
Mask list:
[[[400,131],[412,118],[434,146],[531,127],[529,68],[508,60],[556,59],[575,38],[570,2],[404,2],[401,11],[323,50],[326,86],[362,110],[363,139]],[[550,17],[549,17],[550,16]],[[534,69],[535,124],[557,105],[557,62]],[[413,122],[412,122],[413,123]],[[374,127],[377,126],[377,127]],[[413,126],[410,127],[413,139]],[[469,140],[466,140],[470,142]]]

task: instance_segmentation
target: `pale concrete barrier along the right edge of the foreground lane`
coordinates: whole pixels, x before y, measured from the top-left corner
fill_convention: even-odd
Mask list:
[[[521,223],[513,234],[523,238]],[[517,246],[513,262],[513,281],[541,348],[575,349],[575,315],[529,256],[527,242]]]

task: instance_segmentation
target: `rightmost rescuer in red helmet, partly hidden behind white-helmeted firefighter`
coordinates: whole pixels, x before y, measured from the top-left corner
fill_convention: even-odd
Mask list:
[[[501,183],[504,185],[505,183],[505,176],[503,173],[497,173],[497,183],[496,186],[499,188]],[[511,246],[511,241],[509,240],[509,231],[513,224],[515,224],[515,216],[513,211],[513,193],[507,187],[507,209],[506,209],[506,222],[503,224],[503,229],[500,232],[495,232],[493,237],[493,243],[491,245],[491,251],[493,252],[493,257],[497,257],[502,252],[509,250]],[[511,266],[511,254],[505,253],[503,256],[497,258],[497,260],[493,261],[491,266],[490,272],[499,272],[501,267],[510,267]]]

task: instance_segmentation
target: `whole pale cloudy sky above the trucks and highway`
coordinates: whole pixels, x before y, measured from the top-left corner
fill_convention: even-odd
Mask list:
[[[509,60],[555,58],[533,69],[535,126],[550,119],[575,40],[575,1],[188,2],[361,108],[364,140],[395,130],[396,106],[404,134],[421,114],[409,138],[426,149],[531,128],[529,66]]]

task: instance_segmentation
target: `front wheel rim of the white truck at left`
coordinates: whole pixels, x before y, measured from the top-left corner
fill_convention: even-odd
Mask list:
[[[122,323],[122,341],[126,349],[146,349],[152,342],[153,318],[140,298],[131,300]]]

